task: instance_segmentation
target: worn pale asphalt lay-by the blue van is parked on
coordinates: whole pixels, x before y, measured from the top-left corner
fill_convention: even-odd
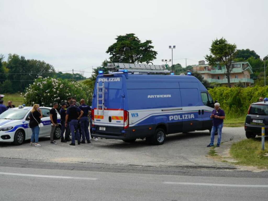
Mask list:
[[[224,127],[222,142],[245,138],[243,127]],[[215,137],[215,142],[217,136]],[[172,134],[160,146],[149,145],[145,140],[124,143],[122,140],[99,139],[90,144],[70,146],[69,143],[50,144],[49,138],[39,140],[41,147],[0,143],[0,158],[49,161],[55,163],[94,163],[105,165],[132,165],[153,167],[234,168],[229,163],[206,157],[209,152],[209,131]],[[221,149],[221,147],[217,148]]]

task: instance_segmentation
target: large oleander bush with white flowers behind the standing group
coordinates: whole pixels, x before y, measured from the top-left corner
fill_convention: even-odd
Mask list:
[[[91,104],[92,90],[77,82],[40,76],[33,84],[29,84],[25,94],[21,93],[21,96],[24,96],[25,104],[31,106],[37,103],[50,107],[53,102],[67,102],[68,96],[75,97],[78,102],[83,98],[87,104]]]

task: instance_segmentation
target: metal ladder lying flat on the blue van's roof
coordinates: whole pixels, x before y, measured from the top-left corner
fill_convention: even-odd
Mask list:
[[[109,73],[128,70],[128,73],[142,74],[169,74],[167,65],[149,65],[149,64],[127,64],[127,63],[109,63],[107,67]]]

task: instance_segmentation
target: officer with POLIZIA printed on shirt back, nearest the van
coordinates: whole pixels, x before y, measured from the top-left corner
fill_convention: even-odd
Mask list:
[[[80,101],[81,105],[79,106],[80,110],[82,110],[84,113],[82,117],[79,119],[80,121],[80,127],[81,127],[81,133],[82,133],[82,144],[85,144],[85,139],[87,139],[87,143],[90,143],[90,137],[89,137],[89,120],[88,116],[91,113],[91,107],[85,104],[85,100],[81,99]]]

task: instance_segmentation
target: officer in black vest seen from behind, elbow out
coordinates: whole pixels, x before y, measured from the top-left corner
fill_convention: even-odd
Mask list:
[[[67,127],[67,122],[68,122],[70,131],[72,133],[72,143],[70,143],[70,145],[75,146],[75,137],[77,138],[77,144],[80,144],[78,120],[81,118],[83,114],[84,112],[80,110],[79,107],[76,107],[75,105],[73,105],[73,101],[70,101],[70,107],[67,108],[66,117],[65,117],[65,127]]]

